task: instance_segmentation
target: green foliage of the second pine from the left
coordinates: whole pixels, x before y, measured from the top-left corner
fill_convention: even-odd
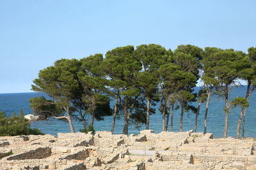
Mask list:
[[[81,71],[78,73],[79,81],[83,87],[82,102],[86,113],[95,113],[97,120],[104,120],[105,116],[112,115],[109,104],[109,97],[104,95],[107,80],[104,79],[106,73],[101,69],[103,62],[102,54],[97,53],[83,58],[81,61]]]

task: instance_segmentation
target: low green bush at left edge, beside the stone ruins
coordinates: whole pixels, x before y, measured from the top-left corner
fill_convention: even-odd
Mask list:
[[[0,112],[0,136],[19,136],[29,134],[44,134],[39,129],[31,129],[30,122],[24,118],[21,110],[20,116],[13,113],[12,117],[8,117],[4,112]]]

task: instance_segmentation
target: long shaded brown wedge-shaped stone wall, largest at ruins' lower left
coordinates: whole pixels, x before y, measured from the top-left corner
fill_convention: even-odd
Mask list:
[[[28,152],[19,153],[6,157],[6,160],[24,160],[24,159],[44,159],[51,155],[51,148],[36,148],[35,150],[29,150]]]

